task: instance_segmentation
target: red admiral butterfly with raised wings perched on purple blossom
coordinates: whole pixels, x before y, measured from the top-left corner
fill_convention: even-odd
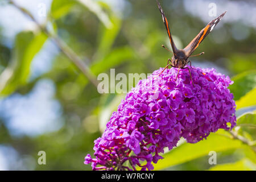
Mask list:
[[[195,51],[195,49],[199,46],[199,44],[204,40],[204,38],[209,34],[209,32],[211,32],[213,30],[213,28],[216,26],[216,24],[218,24],[218,22],[220,22],[221,18],[225,15],[226,11],[224,13],[222,13],[220,16],[218,16],[217,18],[213,19],[210,23],[208,23],[207,26],[199,32],[199,34],[191,41],[191,43],[188,44],[187,47],[185,47],[184,49],[177,49],[176,46],[175,46],[174,40],[172,39],[171,30],[170,30],[170,27],[168,25],[166,15],[164,15],[163,9],[162,9],[160,3],[158,2],[158,0],[156,0],[156,2],[158,3],[158,7],[159,7],[160,13],[161,13],[162,18],[163,18],[163,22],[166,26],[166,30],[167,30],[167,33],[168,33],[168,36],[169,36],[169,39],[170,39],[170,42],[171,42],[173,52],[171,52],[170,50],[168,50],[164,46],[162,46],[162,47],[174,54],[174,56],[172,56],[171,60],[168,59],[167,65],[163,69],[163,71],[166,68],[168,68],[169,66],[174,67],[174,68],[179,68],[178,72],[177,72],[177,76],[178,76],[180,69],[188,69],[189,75],[191,77],[191,81],[192,81],[192,84],[193,84],[191,72],[190,72],[188,67],[185,67],[185,65],[187,65],[188,63],[190,63],[190,66],[191,66],[191,60],[188,60],[188,58],[204,54],[204,52],[201,52],[198,55],[191,56],[191,54]],[[170,62],[170,64],[169,64],[169,62]],[[177,76],[176,76],[175,81],[177,80]]]

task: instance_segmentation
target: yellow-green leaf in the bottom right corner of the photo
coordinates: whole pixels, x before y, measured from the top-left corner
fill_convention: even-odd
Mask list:
[[[210,171],[255,171],[256,164],[249,159],[242,159],[236,163],[218,164],[209,169]]]

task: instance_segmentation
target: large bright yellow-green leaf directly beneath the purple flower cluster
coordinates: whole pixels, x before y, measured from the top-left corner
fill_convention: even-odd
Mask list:
[[[184,143],[172,149],[170,152],[167,152],[163,155],[164,159],[154,164],[154,169],[162,170],[177,164],[182,164],[206,156],[210,151],[220,152],[242,147],[243,144],[239,140],[230,139],[216,133],[210,134],[207,140],[202,140],[198,143]]]

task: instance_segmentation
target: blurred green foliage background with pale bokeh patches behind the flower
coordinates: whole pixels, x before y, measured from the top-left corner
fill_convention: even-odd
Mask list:
[[[191,60],[232,77],[238,127],[196,144],[181,139],[155,169],[255,170],[256,2],[160,3],[178,48],[214,18],[215,5],[216,15],[228,11]],[[170,48],[155,0],[0,0],[0,169],[90,170],[84,156],[125,94],[99,94],[89,80],[110,68],[152,73],[171,57],[162,44]]]

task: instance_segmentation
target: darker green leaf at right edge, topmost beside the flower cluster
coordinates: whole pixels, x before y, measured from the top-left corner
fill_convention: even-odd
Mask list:
[[[232,80],[234,84],[229,86],[230,92],[234,94],[234,100],[239,100],[256,86],[256,70],[243,72]]]

